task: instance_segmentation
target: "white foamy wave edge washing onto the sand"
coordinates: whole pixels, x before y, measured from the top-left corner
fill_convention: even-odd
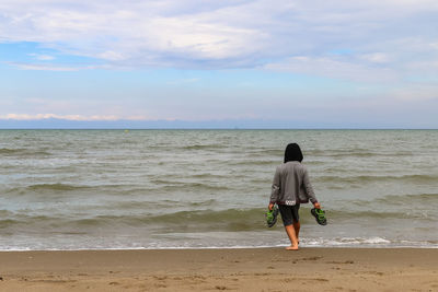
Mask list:
[[[22,250],[123,250],[123,249],[228,249],[228,248],[268,248],[268,247],[284,247],[288,243],[273,243],[269,236],[262,236],[257,240],[239,238],[228,242],[207,241],[199,242],[195,240],[181,240],[169,242],[165,236],[161,241],[142,242],[142,244],[132,243],[129,238],[126,241],[116,241],[110,238],[106,241],[99,241],[95,237],[87,236],[81,232],[73,233],[59,233],[55,241],[32,243],[32,237],[21,238],[21,241],[9,242],[0,246],[2,252],[22,252]],[[66,236],[67,235],[67,236]],[[73,236],[69,236],[73,235]],[[211,233],[208,235],[211,236]],[[206,235],[207,236],[207,235]],[[84,242],[66,242],[60,241],[60,237],[81,237],[85,238]],[[136,238],[138,240],[138,238]],[[32,243],[32,244],[30,244]],[[312,238],[303,237],[300,240],[302,247],[355,247],[355,248],[400,248],[400,247],[415,247],[415,248],[438,248],[438,241],[394,241],[385,237],[328,237],[328,238]],[[333,264],[336,264],[333,261]],[[345,261],[343,264],[351,264]]]

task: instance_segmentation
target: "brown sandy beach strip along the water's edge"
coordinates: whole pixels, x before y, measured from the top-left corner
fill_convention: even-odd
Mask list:
[[[438,249],[0,253],[1,291],[438,291]]]

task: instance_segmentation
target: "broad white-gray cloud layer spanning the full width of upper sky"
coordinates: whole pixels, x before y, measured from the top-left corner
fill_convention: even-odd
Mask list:
[[[359,82],[438,72],[427,68],[438,62],[435,0],[2,0],[0,11],[0,43],[90,58],[8,62],[22,70],[257,68]]]

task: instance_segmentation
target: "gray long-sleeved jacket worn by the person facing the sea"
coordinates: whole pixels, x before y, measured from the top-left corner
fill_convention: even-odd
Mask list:
[[[306,166],[298,161],[289,161],[277,166],[270,202],[293,206],[309,200],[318,202]]]

